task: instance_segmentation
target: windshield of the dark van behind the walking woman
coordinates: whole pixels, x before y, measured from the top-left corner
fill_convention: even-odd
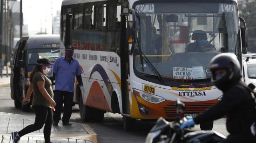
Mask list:
[[[38,58],[47,58],[54,63],[60,57],[60,48],[44,48],[27,50],[27,64],[37,64]]]

